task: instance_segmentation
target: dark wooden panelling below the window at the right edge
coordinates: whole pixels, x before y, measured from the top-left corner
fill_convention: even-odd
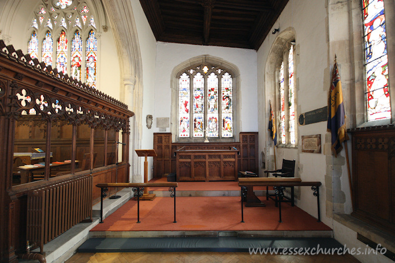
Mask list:
[[[395,126],[350,130],[353,215],[395,232]]]

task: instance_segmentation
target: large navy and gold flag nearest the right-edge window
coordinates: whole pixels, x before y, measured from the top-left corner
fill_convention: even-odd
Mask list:
[[[335,157],[343,149],[342,143],[349,139],[346,131],[345,118],[342,84],[340,82],[337,63],[335,63],[329,89],[327,125],[327,131],[331,132],[332,135],[332,152],[335,154]]]

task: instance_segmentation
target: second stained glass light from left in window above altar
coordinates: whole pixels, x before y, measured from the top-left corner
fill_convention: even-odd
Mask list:
[[[203,137],[204,123],[204,78],[197,73],[194,76],[194,134],[193,137]]]

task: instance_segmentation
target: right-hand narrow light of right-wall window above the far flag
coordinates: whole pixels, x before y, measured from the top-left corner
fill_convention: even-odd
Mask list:
[[[295,97],[294,97],[293,45],[288,53],[288,103],[289,103],[289,142],[295,144]]]

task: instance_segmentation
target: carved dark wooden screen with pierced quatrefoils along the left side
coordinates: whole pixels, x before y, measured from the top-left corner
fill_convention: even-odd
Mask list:
[[[115,183],[117,173],[128,182],[133,115],[0,40],[1,262],[26,253],[27,241],[42,253],[43,244],[90,221],[96,184]],[[117,150],[115,142],[125,145]]]

